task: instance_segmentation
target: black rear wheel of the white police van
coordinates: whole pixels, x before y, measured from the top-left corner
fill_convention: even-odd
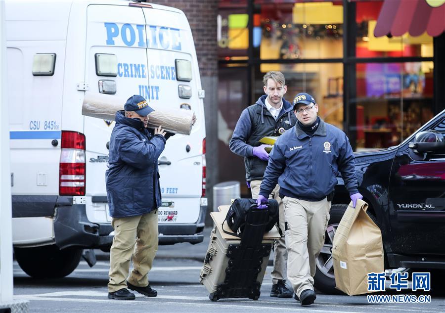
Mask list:
[[[14,256],[20,268],[33,278],[61,278],[77,268],[82,249],[60,250],[56,245],[14,248]]]

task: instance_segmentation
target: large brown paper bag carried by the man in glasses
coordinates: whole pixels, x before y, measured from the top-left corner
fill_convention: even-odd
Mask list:
[[[382,233],[366,214],[368,204],[352,202],[334,235],[332,258],[336,288],[352,296],[368,291],[368,273],[384,269]]]

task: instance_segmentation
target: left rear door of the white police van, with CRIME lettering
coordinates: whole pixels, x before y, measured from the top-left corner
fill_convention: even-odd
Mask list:
[[[140,25],[140,26],[137,26]],[[148,84],[145,19],[140,8],[123,5],[91,4],[88,6],[86,78],[91,92],[99,92],[99,83],[115,82],[116,96],[128,98],[139,94],[138,86]],[[98,54],[102,56],[97,57]],[[117,76],[104,76],[97,72],[98,59],[107,55],[117,57]],[[105,73],[105,75],[108,75]],[[122,109],[124,103],[122,103]],[[106,202],[105,171],[114,121],[85,116],[87,140],[87,201],[92,222],[100,222]],[[94,213],[91,213],[94,212]]]

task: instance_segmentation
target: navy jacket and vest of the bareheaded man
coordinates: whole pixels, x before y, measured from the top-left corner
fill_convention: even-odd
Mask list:
[[[262,144],[259,140],[265,136],[278,136],[280,129],[286,131],[297,123],[289,101],[283,99],[283,107],[275,120],[267,110],[266,98],[267,94],[262,95],[255,104],[243,110],[229,143],[233,153],[244,157],[247,181],[263,179],[266,171],[267,161],[252,153],[254,147]]]

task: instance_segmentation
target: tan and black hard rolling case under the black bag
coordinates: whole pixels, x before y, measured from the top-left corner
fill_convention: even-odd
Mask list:
[[[273,241],[279,238],[278,231],[272,226],[272,230],[265,233],[270,222],[269,211],[257,209],[255,205],[247,210],[242,232],[236,236],[226,222],[229,208],[222,208],[222,212],[211,213],[216,226],[210,235],[200,282],[210,292],[212,301],[257,300]]]

